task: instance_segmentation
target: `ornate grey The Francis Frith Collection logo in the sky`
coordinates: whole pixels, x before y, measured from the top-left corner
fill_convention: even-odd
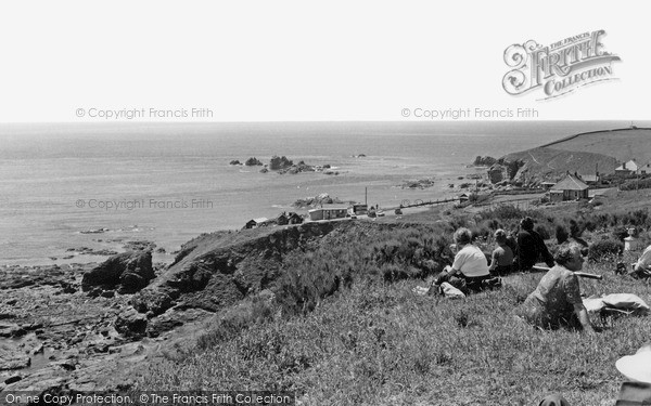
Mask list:
[[[540,88],[541,100],[558,97],[586,84],[616,79],[612,63],[620,56],[604,50],[603,29],[582,32],[542,47],[534,40],[505,51],[511,68],[502,79],[507,93],[519,95]]]

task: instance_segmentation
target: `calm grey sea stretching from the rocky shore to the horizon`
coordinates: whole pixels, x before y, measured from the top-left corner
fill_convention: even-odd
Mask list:
[[[460,180],[500,157],[595,122],[116,123],[0,126],[0,265],[89,263],[154,241],[169,262],[202,233],[240,230],[323,193],[380,208],[459,194]],[[607,126],[608,127],[608,126]],[[272,156],[331,166],[336,174],[261,173],[230,165]],[[431,179],[427,188],[404,187]],[[455,184],[450,188],[449,185]]]

